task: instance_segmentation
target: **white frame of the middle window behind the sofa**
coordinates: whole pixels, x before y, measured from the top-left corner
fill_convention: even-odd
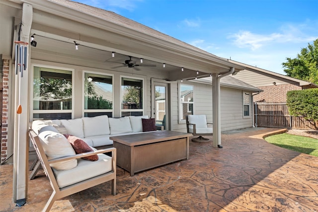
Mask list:
[[[85,73],[92,73],[98,75],[105,75],[112,77],[112,109],[85,109]],[[112,117],[114,116],[114,74],[104,73],[104,72],[97,72],[97,71],[82,71],[82,117],[85,116],[85,113],[99,113],[99,112],[111,112]]]

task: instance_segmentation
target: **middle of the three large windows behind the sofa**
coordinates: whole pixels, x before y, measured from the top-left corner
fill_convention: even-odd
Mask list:
[[[84,73],[84,117],[113,114],[113,77]]]

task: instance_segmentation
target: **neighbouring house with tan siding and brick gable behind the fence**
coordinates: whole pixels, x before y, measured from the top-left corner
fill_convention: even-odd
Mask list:
[[[246,69],[239,71],[239,74],[233,77],[263,90],[263,92],[254,96],[254,102],[286,103],[286,94],[290,90],[318,88],[317,84],[311,82],[236,61],[229,61],[246,67]]]

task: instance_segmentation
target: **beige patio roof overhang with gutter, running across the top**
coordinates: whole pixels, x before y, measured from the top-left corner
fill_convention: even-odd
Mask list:
[[[169,80],[201,76],[207,73],[222,74],[230,71],[232,67],[236,71],[244,69],[244,66],[231,63],[109,11],[100,11],[95,7],[66,0],[9,1],[17,3],[17,6],[24,2],[32,4],[31,33],[51,36],[52,39],[58,38],[71,43],[76,41],[80,45],[102,51],[115,51],[123,56],[130,55],[150,62],[171,65],[174,69],[169,71]],[[97,9],[115,18],[105,18],[90,9]],[[56,44],[52,42],[51,46],[54,47]],[[50,49],[49,46],[43,47],[43,50],[37,48],[40,52]],[[72,53],[64,51],[63,54],[70,54],[72,57]],[[176,71],[181,67],[186,71]],[[199,74],[196,73],[197,71]]]

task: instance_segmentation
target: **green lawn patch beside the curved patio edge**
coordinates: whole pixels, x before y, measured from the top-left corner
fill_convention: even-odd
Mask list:
[[[265,138],[267,142],[274,145],[287,148],[293,151],[298,151],[305,154],[310,154],[318,157],[318,140],[304,136],[295,136],[291,134],[278,134]]]

